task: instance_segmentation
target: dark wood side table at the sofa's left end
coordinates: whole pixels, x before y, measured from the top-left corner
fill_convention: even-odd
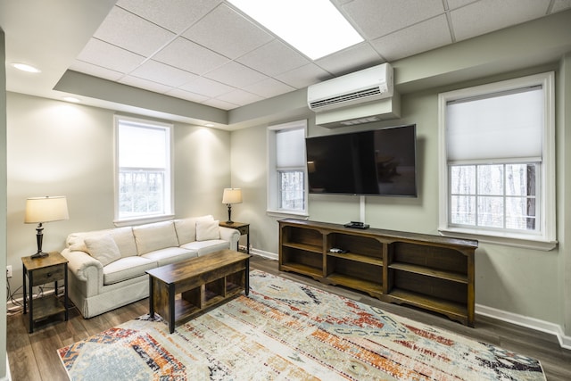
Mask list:
[[[29,302],[29,333],[34,332],[34,322],[63,312],[68,320],[68,260],[58,252],[49,253],[44,258],[22,257],[24,315]],[[28,277],[26,277],[28,276]],[[28,278],[28,286],[26,286]],[[57,296],[57,282],[63,281],[63,302]],[[54,294],[33,298],[33,286],[54,282]],[[29,293],[29,300],[28,300]]]

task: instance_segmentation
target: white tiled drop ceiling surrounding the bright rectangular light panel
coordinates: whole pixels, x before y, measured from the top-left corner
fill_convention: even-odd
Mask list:
[[[332,2],[368,39],[311,62],[224,0],[119,0],[70,69],[231,110],[571,6],[571,0]]]

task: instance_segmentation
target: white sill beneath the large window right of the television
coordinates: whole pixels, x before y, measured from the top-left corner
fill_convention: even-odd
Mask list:
[[[482,232],[472,229],[462,228],[439,228],[438,232],[441,236],[451,236],[454,238],[471,238],[476,239],[478,242],[486,244],[501,244],[504,246],[513,246],[524,249],[539,250],[542,252],[549,252],[557,247],[556,240],[549,241],[542,238],[535,238],[531,236],[507,236],[507,235],[489,235],[482,234]]]

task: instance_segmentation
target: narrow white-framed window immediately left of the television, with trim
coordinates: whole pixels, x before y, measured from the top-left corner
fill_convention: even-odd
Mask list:
[[[268,128],[268,211],[307,215],[306,120]]]

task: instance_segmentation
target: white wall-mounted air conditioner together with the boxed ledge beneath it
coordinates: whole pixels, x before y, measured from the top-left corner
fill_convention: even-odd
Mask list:
[[[327,128],[401,117],[401,97],[393,89],[388,63],[311,85],[307,104],[316,112],[315,124]]]

